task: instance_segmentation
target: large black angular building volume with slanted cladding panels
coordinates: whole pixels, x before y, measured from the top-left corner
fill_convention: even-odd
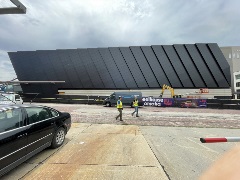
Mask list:
[[[229,88],[230,67],[216,43],[9,52],[24,93],[58,89]]]

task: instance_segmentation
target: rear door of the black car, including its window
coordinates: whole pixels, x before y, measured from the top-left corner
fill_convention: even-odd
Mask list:
[[[54,118],[46,107],[26,107],[28,117],[27,153],[36,154],[50,145],[54,133]]]

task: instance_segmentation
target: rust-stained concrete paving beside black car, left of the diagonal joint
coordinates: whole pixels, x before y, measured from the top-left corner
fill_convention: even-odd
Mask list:
[[[160,163],[132,125],[73,124],[67,142],[45,151],[2,179],[167,180]]]

